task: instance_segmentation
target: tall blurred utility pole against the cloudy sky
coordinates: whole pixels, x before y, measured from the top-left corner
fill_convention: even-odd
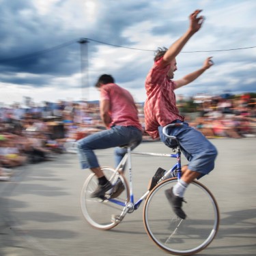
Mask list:
[[[79,41],[81,53],[81,88],[82,99],[89,101],[89,72],[88,72],[88,43],[89,40],[81,38]]]

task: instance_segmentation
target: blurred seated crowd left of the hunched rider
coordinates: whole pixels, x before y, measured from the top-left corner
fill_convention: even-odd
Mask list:
[[[0,180],[9,180],[15,167],[53,160],[68,150],[75,152],[75,141],[102,129],[98,104],[45,102],[41,107],[1,107]]]

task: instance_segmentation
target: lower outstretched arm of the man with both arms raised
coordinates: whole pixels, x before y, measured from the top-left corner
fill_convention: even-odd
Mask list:
[[[210,68],[212,65],[214,65],[214,63],[212,61],[212,57],[208,57],[203,62],[202,68],[200,68],[199,70],[196,70],[195,72],[187,74],[182,79],[175,81],[175,85],[176,85],[175,89],[182,87],[184,85],[188,85],[188,83],[193,82],[195,79],[197,79],[197,77],[199,77],[201,74],[203,74],[203,72],[205,72],[205,70],[208,70],[208,68]]]

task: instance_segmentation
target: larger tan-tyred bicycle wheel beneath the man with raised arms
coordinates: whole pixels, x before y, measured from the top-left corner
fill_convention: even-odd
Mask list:
[[[147,197],[143,221],[147,234],[163,250],[175,255],[193,255],[212,242],[218,231],[218,205],[210,190],[194,181],[189,184],[182,209],[185,220],[178,218],[165,190],[177,183],[177,178],[161,182]]]

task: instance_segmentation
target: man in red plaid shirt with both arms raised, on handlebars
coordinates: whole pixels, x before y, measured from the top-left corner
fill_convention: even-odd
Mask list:
[[[145,130],[152,138],[160,136],[161,141],[169,147],[173,146],[173,141],[162,134],[162,128],[167,124],[184,122],[184,117],[180,115],[176,106],[174,90],[188,85],[213,65],[212,57],[208,57],[199,70],[187,74],[180,80],[171,80],[177,70],[175,57],[182,51],[186,42],[201,29],[203,16],[198,16],[200,12],[201,10],[196,10],[193,14],[190,14],[188,30],[169,49],[158,48],[154,66],[147,74],[145,81],[147,91],[147,100],[144,106]],[[217,151],[201,132],[189,127],[186,123],[183,126],[170,128],[168,133],[177,137],[189,165],[182,167],[182,178],[173,188],[166,191],[166,195],[175,214],[180,218],[186,218],[186,214],[182,210],[184,191],[195,178],[199,179],[214,169]]]

